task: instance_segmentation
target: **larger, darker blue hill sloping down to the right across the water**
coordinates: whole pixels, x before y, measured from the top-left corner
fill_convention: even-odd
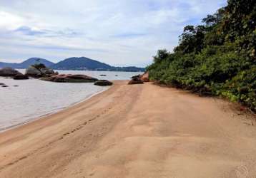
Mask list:
[[[129,71],[137,72],[144,71],[144,68],[137,67],[114,67],[106,63],[101,63],[90,58],[67,58],[64,61],[54,64],[51,68],[59,70],[99,70],[99,71]]]

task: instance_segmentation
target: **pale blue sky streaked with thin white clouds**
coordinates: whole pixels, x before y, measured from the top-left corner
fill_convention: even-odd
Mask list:
[[[0,0],[0,61],[85,56],[144,67],[225,0]]]

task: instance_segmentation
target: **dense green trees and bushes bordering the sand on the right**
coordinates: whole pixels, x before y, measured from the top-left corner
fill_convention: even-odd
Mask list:
[[[184,27],[173,53],[159,50],[149,78],[256,110],[256,1],[227,3],[203,25]]]

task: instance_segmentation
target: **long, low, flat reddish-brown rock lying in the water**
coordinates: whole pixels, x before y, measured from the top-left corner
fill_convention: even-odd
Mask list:
[[[59,83],[94,83],[98,79],[87,75],[60,74],[49,77],[40,78],[41,80],[59,82]]]

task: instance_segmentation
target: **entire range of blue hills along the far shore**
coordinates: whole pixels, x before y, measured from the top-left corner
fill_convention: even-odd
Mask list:
[[[144,68],[137,68],[134,66],[130,67],[114,67],[107,63],[101,63],[99,61],[80,57],[80,58],[67,58],[59,63],[52,63],[43,58],[29,58],[22,63],[1,63],[0,68],[11,67],[11,68],[28,68],[35,63],[43,63],[46,67],[53,68],[56,70],[99,70],[99,71],[124,71],[124,72],[138,72],[144,71]]]

